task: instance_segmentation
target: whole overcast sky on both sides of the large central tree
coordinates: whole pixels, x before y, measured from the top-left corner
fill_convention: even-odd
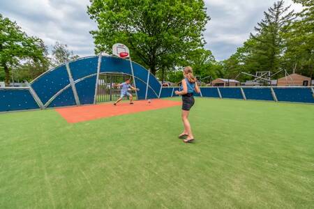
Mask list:
[[[292,0],[285,1],[287,5]],[[241,47],[274,0],[205,0],[211,20],[204,31],[205,47],[217,60],[227,59]],[[56,41],[67,44],[80,56],[94,54],[97,29],[87,15],[89,0],[0,0],[0,13],[16,21],[29,36],[37,36],[52,47]],[[292,3],[292,9],[301,6]]]

